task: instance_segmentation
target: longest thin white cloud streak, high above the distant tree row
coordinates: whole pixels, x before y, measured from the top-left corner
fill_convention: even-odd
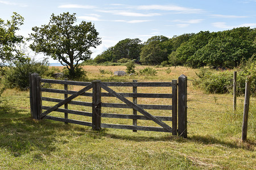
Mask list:
[[[198,8],[187,8],[176,5],[141,5],[137,6],[138,10],[162,10],[162,11],[175,11],[183,14],[200,14],[204,10]]]

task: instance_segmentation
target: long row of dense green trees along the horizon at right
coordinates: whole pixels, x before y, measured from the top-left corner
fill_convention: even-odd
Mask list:
[[[185,33],[169,39],[153,36],[146,42],[125,39],[108,48],[94,62],[135,59],[144,65],[237,67],[256,52],[256,29],[233,28],[227,31]]]

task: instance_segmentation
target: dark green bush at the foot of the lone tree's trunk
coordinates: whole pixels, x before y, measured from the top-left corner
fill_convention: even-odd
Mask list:
[[[69,70],[67,68],[63,69],[64,76],[70,80],[84,81],[84,80],[86,80],[86,73],[87,73],[87,71],[82,69],[82,67],[80,65],[75,67],[75,70]]]

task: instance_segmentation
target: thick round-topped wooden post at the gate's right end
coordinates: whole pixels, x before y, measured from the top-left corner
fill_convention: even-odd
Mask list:
[[[178,84],[178,135],[187,138],[187,76],[179,76]]]

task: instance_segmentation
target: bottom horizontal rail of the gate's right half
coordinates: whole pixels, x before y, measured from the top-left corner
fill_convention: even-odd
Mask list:
[[[101,124],[101,128],[170,132],[162,127],[151,127],[151,126]]]

